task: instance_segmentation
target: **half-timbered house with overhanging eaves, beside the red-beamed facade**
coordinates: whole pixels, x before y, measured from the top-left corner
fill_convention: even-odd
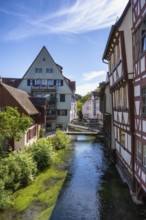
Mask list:
[[[129,1],[123,14],[111,28],[103,54],[103,62],[109,65],[117,169],[133,191],[134,113],[131,27],[132,8]]]

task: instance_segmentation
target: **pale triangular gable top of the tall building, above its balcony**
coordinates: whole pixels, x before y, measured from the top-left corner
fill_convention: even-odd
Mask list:
[[[62,67],[55,63],[46,47],[42,48],[29,69],[26,71],[18,88],[30,94],[31,85],[28,85],[28,81],[29,84],[31,81],[32,84],[38,85],[39,80],[40,84],[43,86],[48,85],[48,83],[50,83],[49,80],[52,81],[53,85],[54,81],[63,80],[64,88],[59,88],[61,92],[63,92],[62,89],[65,89],[67,93],[72,93],[71,87],[68,85],[66,78],[62,75]]]

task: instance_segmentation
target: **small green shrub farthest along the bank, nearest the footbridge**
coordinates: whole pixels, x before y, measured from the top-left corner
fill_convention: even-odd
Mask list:
[[[70,145],[70,139],[67,134],[59,129],[51,137],[51,140],[55,150],[63,149]]]

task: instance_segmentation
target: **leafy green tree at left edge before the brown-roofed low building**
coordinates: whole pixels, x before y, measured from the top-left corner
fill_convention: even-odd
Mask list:
[[[6,140],[19,140],[31,123],[32,119],[21,115],[17,108],[7,106],[6,111],[0,111],[0,146],[2,147]]]

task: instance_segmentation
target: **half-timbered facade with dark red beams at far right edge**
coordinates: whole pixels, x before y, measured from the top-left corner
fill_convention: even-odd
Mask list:
[[[146,197],[146,1],[132,0],[136,196]]]

